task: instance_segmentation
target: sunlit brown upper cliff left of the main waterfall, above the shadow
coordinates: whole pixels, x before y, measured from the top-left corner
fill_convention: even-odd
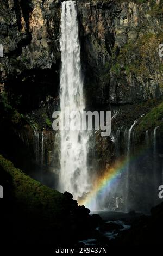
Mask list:
[[[59,17],[52,2],[1,1],[2,81],[8,74],[49,69],[58,61]]]

